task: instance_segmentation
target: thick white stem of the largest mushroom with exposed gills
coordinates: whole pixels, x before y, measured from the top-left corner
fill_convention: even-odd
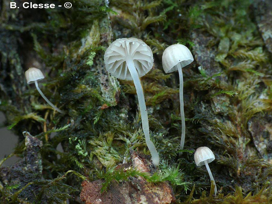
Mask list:
[[[154,165],[159,164],[159,155],[157,153],[157,150],[153,144],[153,142],[150,140],[149,136],[149,125],[148,125],[148,116],[147,116],[147,110],[146,110],[146,105],[145,105],[145,100],[144,100],[144,92],[143,88],[139,79],[139,75],[136,71],[136,68],[134,66],[133,60],[131,58],[126,59],[126,63],[128,65],[128,70],[131,74],[131,77],[133,79],[135,89],[137,92],[138,96],[138,101],[139,101],[139,108],[141,112],[141,119],[142,119],[142,126],[143,126],[143,131],[144,131],[144,136],[145,136],[145,142],[147,144],[147,147],[151,153],[151,160]]]

